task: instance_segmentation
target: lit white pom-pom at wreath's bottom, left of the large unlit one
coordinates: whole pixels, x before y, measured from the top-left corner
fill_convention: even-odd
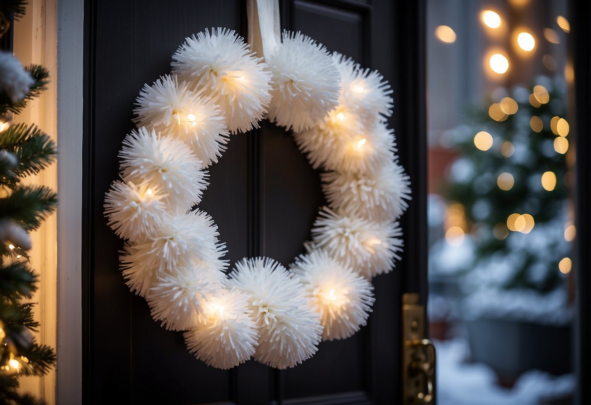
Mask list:
[[[238,290],[210,299],[204,322],[184,333],[189,352],[222,370],[249,360],[255,354],[258,333],[247,300],[248,295]]]

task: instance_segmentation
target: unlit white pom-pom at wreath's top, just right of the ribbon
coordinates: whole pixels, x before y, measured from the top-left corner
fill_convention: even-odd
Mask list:
[[[322,44],[297,32],[283,32],[283,43],[265,62],[273,73],[268,117],[296,132],[322,121],[337,106],[340,75]]]

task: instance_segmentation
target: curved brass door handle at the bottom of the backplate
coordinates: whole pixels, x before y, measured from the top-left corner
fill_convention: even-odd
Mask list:
[[[434,399],[435,389],[435,346],[429,339],[413,341],[412,361],[408,366],[411,375],[423,374],[424,389],[418,390],[418,403],[430,404]]]

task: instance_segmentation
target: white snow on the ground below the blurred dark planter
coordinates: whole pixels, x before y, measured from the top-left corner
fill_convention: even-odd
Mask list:
[[[439,405],[537,405],[541,399],[565,397],[574,390],[574,375],[558,377],[530,370],[512,388],[496,384],[496,375],[482,363],[466,363],[469,348],[463,338],[435,342]]]

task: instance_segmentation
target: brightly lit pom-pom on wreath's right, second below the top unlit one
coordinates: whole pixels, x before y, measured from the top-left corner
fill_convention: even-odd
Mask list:
[[[339,132],[349,122],[349,130]],[[388,130],[385,123],[366,130],[359,117],[344,112],[297,133],[296,143],[314,169],[322,166],[343,173],[376,171],[391,162],[396,151],[394,131]]]

